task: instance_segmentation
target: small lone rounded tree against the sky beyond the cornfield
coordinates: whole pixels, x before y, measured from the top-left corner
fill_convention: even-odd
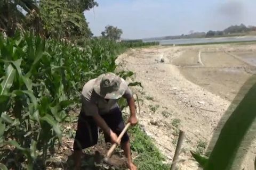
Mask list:
[[[107,25],[105,31],[101,32],[102,37],[110,40],[119,40],[121,38],[123,31],[112,25]]]

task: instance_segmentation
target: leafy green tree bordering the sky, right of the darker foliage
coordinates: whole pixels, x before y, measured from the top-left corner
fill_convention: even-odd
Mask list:
[[[89,38],[92,32],[83,13],[68,7],[65,1],[41,0],[40,14],[46,37],[66,38],[76,41]]]

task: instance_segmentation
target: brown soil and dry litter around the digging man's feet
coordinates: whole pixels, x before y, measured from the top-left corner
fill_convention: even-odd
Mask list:
[[[55,153],[47,160],[48,169],[74,169],[73,159],[73,144],[75,138],[75,132],[77,129],[79,110],[70,112],[69,116],[71,120],[62,124],[63,136],[62,144],[60,147],[55,148]],[[72,123],[70,123],[72,122]],[[108,149],[111,147],[111,143],[105,143],[103,134],[100,133],[98,144],[89,149],[83,150],[82,155],[82,169],[85,170],[105,170],[105,169],[126,169],[126,159],[124,158],[123,151],[119,146],[115,149],[112,156],[108,159],[108,162],[103,162],[104,156],[107,154]]]

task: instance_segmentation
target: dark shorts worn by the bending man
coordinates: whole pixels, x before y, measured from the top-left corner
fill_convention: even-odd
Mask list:
[[[119,135],[124,129],[122,112],[119,108],[111,110],[108,114],[101,116],[109,128]],[[127,132],[123,135],[121,143],[129,141]],[[105,135],[105,142],[110,142],[110,138]],[[92,147],[98,143],[98,126],[92,116],[85,116],[82,112],[79,114],[76,137],[74,141],[74,150],[82,150]]]

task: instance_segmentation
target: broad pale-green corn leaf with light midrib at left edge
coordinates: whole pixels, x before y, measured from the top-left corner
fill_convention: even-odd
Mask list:
[[[7,94],[9,89],[12,87],[12,83],[15,77],[15,69],[13,69],[12,65],[10,64],[5,72],[5,78],[1,83],[2,91],[0,91],[0,95]]]

